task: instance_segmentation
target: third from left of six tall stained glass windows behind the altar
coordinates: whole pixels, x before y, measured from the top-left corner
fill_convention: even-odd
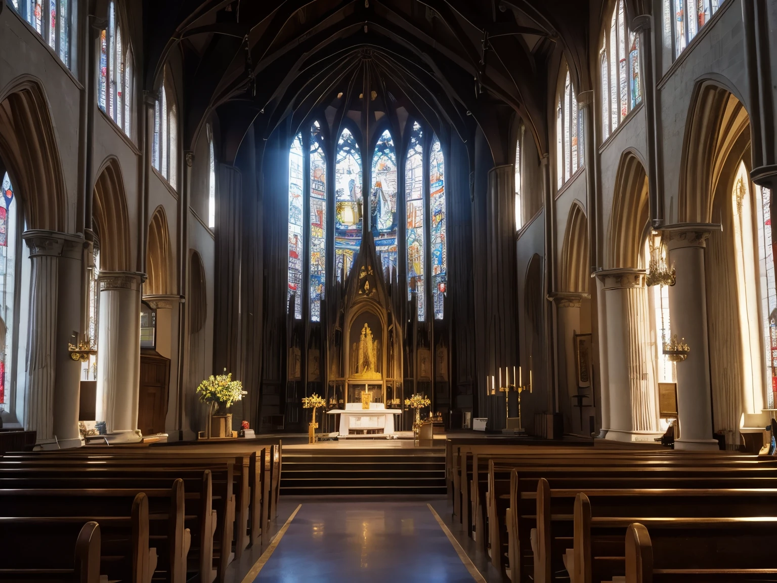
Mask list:
[[[337,141],[335,196],[335,272],[340,281],[354,263],[362,233],[361,152],[348,128]]]

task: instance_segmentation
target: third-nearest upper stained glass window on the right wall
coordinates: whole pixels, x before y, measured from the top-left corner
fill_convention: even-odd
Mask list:
[[[570,180],[580,166],[580,152],[583,135],[583,117],[579,115],[575,88],[572,85],[570,71],[566,71],[564,84],[559,88],[558,106],[556,108],[556,176],[557,187]]]

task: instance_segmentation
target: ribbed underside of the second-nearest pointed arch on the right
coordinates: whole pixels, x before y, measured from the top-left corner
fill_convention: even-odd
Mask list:
[[[615,175],[615,196],[608,231],[608,267],[637,267],[649,217],[645,165],[625,150]]]

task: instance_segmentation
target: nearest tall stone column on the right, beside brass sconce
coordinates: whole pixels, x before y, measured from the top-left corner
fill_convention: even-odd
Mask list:
[[[677,272],[677,281],[669,288],[670,329],[691,349],[677,365],[680,437],[674,440],[674,449],[718,449],[713,439],[704,275],[704,248],[713,229],[720,231],[720,225],[680,223],[663,229],[669,264]]]

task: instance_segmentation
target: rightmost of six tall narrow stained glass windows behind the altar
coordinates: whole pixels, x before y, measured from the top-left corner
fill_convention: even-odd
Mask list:
[[[429,157],[429,182],[434,319],[442,319],[443,302],[448,285],[448,246],[445,218],[445,161],[440,140],[436,135],[432,140]]]

